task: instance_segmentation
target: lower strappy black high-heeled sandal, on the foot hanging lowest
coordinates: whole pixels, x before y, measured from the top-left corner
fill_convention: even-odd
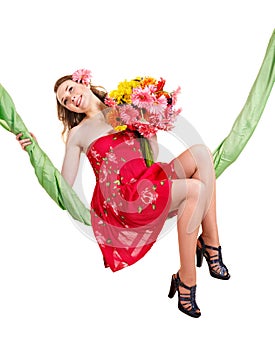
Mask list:
[[[190,293],[180,293],[179,287],[183,287],[190,291]],[[168,297],[172,299],[175,293],[178,292],[178,308],[181,312],[186,315],[198,318],[201,313],[199,311],[198,305],[196,303],[196,286],[188,287],[180,280],[179,273],[177,276],[172,276],[171,287]],[[184,303],[182,303],[182,301]]]

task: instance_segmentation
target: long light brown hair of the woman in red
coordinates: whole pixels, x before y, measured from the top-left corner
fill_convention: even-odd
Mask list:
[[[61,77],[58,79],[54,85],[54,92],[56,94],[57,89],[59,86],[64,83],[66,80],[72,80],[72,75],[65,75],[64,77]],[[90,85],[91,91],[100,99],[101,102],[104,103],[104,99],[107,95],[107,91],[102,86],[94,86]],[[58,119],[62,121],[64,129],[62,131],[62,137],[65,138],[65,135],[67,132],[73,128],[74,126],[78,125],[86,116],[85,113],[75,113],[64,106],[61,105],[61,103],[58,101],[56,97],[56,103],[57,103],[57,116]]]

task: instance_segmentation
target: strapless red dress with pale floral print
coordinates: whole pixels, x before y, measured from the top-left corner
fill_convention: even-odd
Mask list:
[[[94,141],[87,157],[96,176],[91,224],[106,267],[118,271],[141,259],[168,217],[172,163],[147,167],[136,133]]]

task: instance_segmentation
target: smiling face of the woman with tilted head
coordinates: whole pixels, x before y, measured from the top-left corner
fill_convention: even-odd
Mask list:
[[[89,87],[73,80],[64,81],[57,89],[59,103],[76,113],[87,113],[91,107],[92,92]]]

